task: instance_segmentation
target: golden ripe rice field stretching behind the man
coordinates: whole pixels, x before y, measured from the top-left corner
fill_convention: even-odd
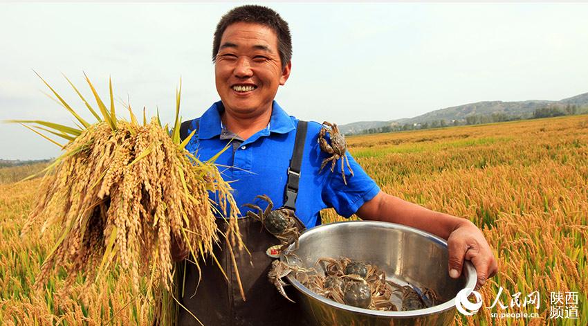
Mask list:
[[[470,219],[493,246],[499,273],[480,291],[482,309],[473,317],[456,316],[456,325],[588,325],[588,116],[355,136],[347,141],[350,152],[383,190]],[[21,176],[30,172],[26,169]],[[49,280],[42,296],[33,295],[34,277],[57,232],[19,237],[40,180],[14,180],[14,171],[0,169],[0,324],[136,324],[131,280],[121,275],[101,278],[87,305],[77,300],[81,279],[72,296],[55,295],[64,273]],[[328,211],[327,219],[340,217]],[[505,305],[516,292],[522,302],[538,291],[540,308],[486,309],[499,287]],[[552,292],[577,292],[577,319],[550,318]],[[537,313],[539,318],[491,316],[501,312]]]

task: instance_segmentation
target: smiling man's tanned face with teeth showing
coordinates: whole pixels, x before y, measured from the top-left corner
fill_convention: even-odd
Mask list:
[[[226,111],[246,117],[270,110],[290,68],[288,62],[282,69],[273,30],[245,22],[228,26],[214,65],[217,91]]]

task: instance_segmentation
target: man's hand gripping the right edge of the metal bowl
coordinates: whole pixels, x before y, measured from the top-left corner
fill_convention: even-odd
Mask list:
[[[459,278],[461,275],[464,259],[470,260],[476,268],[476,290],[498,271],[494,253],[484,235],[472,222],[464,219],[463,223],[459,224],[449,235],[447,244],[449,247],[449,275],[452,278]]]

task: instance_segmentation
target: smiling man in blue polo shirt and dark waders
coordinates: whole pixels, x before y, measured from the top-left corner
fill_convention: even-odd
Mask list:
[[[187,150],[205,160],[230,142],[230,149],[216,163],[225,167],[223,178],[233,181],[242,215],[249,210],[243,206],[246,203],[265,208],[267,203],[256,198],[265,194],[274,208],[284,206],[286,197],[291,196],[288,203],[294,203],[291,206],[295,206],[300,228],[320,224],[320,210],[328,207],[343,216],[355,213],[362,219],[405,224],[448,239],[448,273],[452,278],[459,277],[466,259],[476,267],[477,286],[484,284],[496,273],[497,262],[474,224],[380,191],[349,154],[354,175],[346,170],[347,184],[341,173],[328,169],[320,172],[320,163],[329,156],[317,143],[320,124],[308,124],[302,135],[300,174],[292,172],[295,138],[302,123],[274,101],[277,89],[286,84],[291,73],[291,48],[288,24],[273,10],[241,6],[223,16],[213,43],[215,81],[221,101],[201,118],[183,124],[184,134],[196,130]],[[286,196],[286,184],[293,179],[298,180],[294,189],[297,192],[292,194],[290,189]],[[240,219],[239,226],[250,252],[236,253],[247,300],[241,299],[228,247],[223,242],[215,255],[228,280],[212,261],[201,264],[201,271],[192,264],[185,265],[181,302],[190,312],[180,309],[180,324],[196,325],[192,314],[205,325],[299,324],[297,305],[279,296],[267,280],[272,258],[266,255],[266,249],[277,244],[277,239],[250,217]],[[223,223],[219,227],[223,228]],[[197,284],[198,291],[194,293]]]

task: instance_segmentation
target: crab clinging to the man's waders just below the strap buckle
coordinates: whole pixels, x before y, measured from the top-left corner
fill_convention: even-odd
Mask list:
[[[292,242],[294,242],[294,249],[298,248],[298,237],[300,237],[300,231],[296,227],[296,220],[294,212],[288,208],[278,208],[272,210],[273,202],[270,197],[265,194],[261,194],[255,197],[256,199],[264,200],[268,203],[265,210],[262,210],[259,206],[246,203],[244,206],[257,210],[257,214],[252,211],[247,212],[248,217],[252,217],[261,221],[261,225],[268,230],[269,233],[275,235],[277,239],[282,243],[279,251],[283,251]]]

